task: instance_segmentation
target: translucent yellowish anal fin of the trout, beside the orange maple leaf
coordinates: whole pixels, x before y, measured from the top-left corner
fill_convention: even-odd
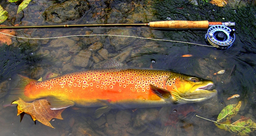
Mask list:
[[[73,101],[64,100],[56,97],[47,97],[46,99],[51,104],[50,107],[52,110],[59,110],[75,105]]]

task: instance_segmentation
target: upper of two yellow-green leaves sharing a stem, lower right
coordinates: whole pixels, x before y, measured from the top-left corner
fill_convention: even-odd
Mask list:
[[[226,122],[232,117],[236,116],[236,114],[240,110],[241,104],[242,102],[240,101],[237,104],[230,104],[226,106],[224,109],[222,109],[222,111],[220,111],[217,122]]]

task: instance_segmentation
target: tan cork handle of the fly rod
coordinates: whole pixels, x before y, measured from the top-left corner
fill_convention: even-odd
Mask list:
[[[208,21],[181,21],[181,20],[170,20],[170,21],[156,21],[149,22],[149,27],[154,28],[208,28]]]

